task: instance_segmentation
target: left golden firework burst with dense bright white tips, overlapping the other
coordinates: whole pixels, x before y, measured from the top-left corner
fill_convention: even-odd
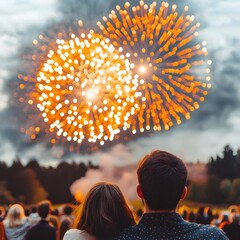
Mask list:
[[[36,77],[29,78],[33,89],[28,100],[39,109],[48,133],[56,136],[51,142],[103,145],[123,127],[130,128],[138,108],[133,67],[109,39],[92,30],[51,43]]]

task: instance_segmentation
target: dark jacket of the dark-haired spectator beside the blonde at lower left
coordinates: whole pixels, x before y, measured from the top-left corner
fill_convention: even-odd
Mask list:
[[[27,232],[25,240],[56,240],[56,229],[48,221],[40,220]]]

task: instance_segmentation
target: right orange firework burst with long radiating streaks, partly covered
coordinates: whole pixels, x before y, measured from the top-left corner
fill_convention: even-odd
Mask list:
[[[168,130],[173,120],[180,124],[181,116],[189,119],[211,87],[206,42],[197,38],[200,24],[187,14],[187,6],[181,14],[176,9],[172,5],[169,10],[167,2],[159,8],[156,2],[149,6],[140,1],[133,7],[126,2],[97,23],[141,78],[137,121],[131,123],[141,132],[151,126]]]

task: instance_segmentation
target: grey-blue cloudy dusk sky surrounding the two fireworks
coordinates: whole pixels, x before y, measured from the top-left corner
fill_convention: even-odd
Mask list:
[[[93,25],[118,2],[122,1],[1,0],[0,160],[10,163],[18,155],[24,162],[37,158],[44,164],[54,164],[59,161],[57,156],[61,152],[61,147],[47,149],[44,141],[25,145],[20,137],[19,115],[9,107],[13,96],[6,86],[10,81],[18,81],[14,76],[21,67],[22,47],[30,46],[54,22],[68,22],[73,17],[69,9],[74,9],[79,19]],[[91,159],[99,163],[107,155],[116,164],[126,164],[138,161],[153,149],[162,149],[186,161],[206,162],[211,156],[221,154],[227,144],[234,150],[240,148],[240,1],[176,1],[180,2],[188,4],[189,12],[202,23],[199,37],[207,41],[213,61],[212,89],[206,100],[192,113],[190,120],[183,120],[179,126],[175,124],[168,132],[154,132],[151,137],[140,136],[90,156],[72,154],[63,160]]]

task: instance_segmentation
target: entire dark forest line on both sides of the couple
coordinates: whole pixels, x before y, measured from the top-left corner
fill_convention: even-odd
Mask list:
[[[56,167],[41,166],[32,159],[23,165],[19,158],[8,166],[0,162],[0,204],[36,203],[50,199],[54,204],[73,202],[71,184],[85,176],[88,169],[98,168],[91,162],[60,162]],[[206,163],[206,182],[189,182],[188,200],[207,203],[240,204],[240,150],[230,146]]]

